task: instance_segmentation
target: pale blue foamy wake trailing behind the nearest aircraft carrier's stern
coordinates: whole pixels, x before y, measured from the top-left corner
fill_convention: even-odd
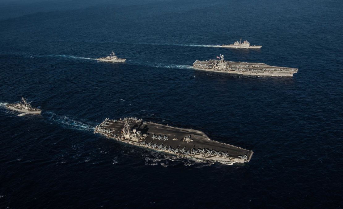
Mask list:
[[[71,119],[67,116],[60,116],[55,114],[54,112],[42,112],[42,115],[46,117],[48,120],[58,123],[64,127],[77,129],[77,130],[84,130],[84,131],[93,131],[94,127],[88,125],[84,122],[80,122],[74,119]]]

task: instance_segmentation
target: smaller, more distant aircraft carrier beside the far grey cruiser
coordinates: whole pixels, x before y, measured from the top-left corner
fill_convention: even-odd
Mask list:
[[[193,68],[220,73],[234,73],[258,76],[293,76],[297,73],[297,68],[276,67],[264,63],[231,62],[225,61],[224,55],[217,56],[220,60],[196,60]]]

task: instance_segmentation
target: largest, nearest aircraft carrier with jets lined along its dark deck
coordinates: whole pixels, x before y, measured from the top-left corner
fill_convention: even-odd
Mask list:
[[[213,141],[202,131],[145,122],[133,117],[106,118],[95,127],[94,133],[181,157],[243,163],[249,162],[253,154],[244,148]]]

